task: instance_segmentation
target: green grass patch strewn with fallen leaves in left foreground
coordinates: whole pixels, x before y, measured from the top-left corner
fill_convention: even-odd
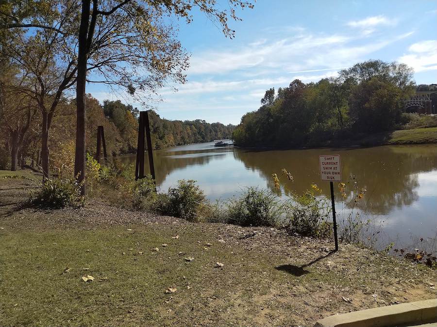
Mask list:
[[[170,231],[134,230],[2,233],[0,324],[112,325],[130,319],[138,324],[170,323],[169,309],[178,311],[178,321],[189,324],[196,315],[191,308],[202,315],[208,299],[228,298],[229,290],[240,288],[241,278],[227,278],[232,267],[252,270],[253,257],[244,260],[217,243],[205,250],[205,242],[213,241],[202,234],[181,233],[177,240]],[[181,251],[184,254],[178,254]],[[187,256],[195,260],[185,262]],[[253,267],[258,277],[267,269],[263,261]],[[216,262],[225,267],[216,268]],[[86,275],[95,280],[84,282]],[[103,278],[107,280],[100,281]],[[215,287],[211,280],[217,282]],[[177,291],[166,294],[168,287]],[[248,291],[243,293],[250,300]],[[178,310],[182,305],[187,307]]]

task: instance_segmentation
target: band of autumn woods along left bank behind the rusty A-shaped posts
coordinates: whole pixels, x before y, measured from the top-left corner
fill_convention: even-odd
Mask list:
[[[17,166],[26,162],[29,165],[31,159],[37,159],[41,142],[39,111],[32,109],[34,99],[23,101],[25,104],[17,108],[13,106],[16,102],[12,95],[5,97],[0,115],[0,169],[16,171]],[[105,100],[101,105],[91,94],[86,96],[86,102],[86,151],[96,151],[97,126],[102,125],[109,155],[134,153],[138,138],[138,110],[120,100]],[[76,126],[69,123],[76,120],[74,106],[74,100],[64,99],[59,113],[53,117],[48,139],[50,171],[56,171],[64,163],[67,153],[74,153]],[[149,119],[153,149],[228,139],[235,128],[234,125],[210,124],[200,119],[171,121],[162,119],[153,110],[149,111]]]

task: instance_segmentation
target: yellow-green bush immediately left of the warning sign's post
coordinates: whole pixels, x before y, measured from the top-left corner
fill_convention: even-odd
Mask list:
[[[308,190],[302,195],[295,195],[293,200],[288,203],[289,210],[286,214],[292,232],[312,237],[331,235],[332,223],[329,222],[331,210],[327,199],[319,199]]]

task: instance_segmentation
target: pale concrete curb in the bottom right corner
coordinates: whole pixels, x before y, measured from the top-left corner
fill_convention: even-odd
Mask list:
[[[437,322],[437,299],[337,314],[314,327],[390,327]]]

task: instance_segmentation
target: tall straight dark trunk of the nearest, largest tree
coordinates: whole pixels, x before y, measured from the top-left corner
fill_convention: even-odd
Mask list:
[[[90,0],[82,0],[81,25],[79,28],[79,51],[77,58],[76,86],[76,151],[74,157],[74,175],[78,182],[85,179],[85,83],[87,62],[87,36],[89,27]],[[81,194],[85,195],[85,185],[82,183]]]

